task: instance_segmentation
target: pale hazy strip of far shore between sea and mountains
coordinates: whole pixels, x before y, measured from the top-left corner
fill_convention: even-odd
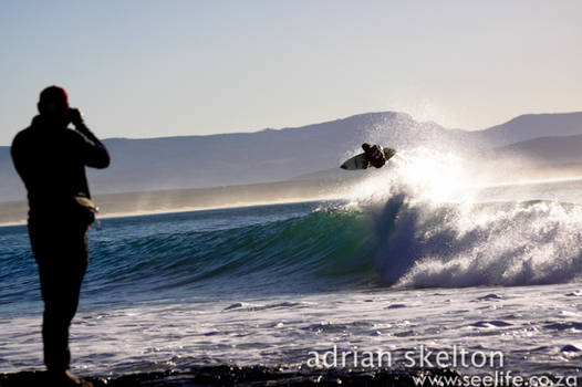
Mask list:
[[[558,172],[558,171],[562,172]],[[374,174],[375,171],[371,171]],[[486,177],[482,185],[468,188],[503,188],[582,179],[582,165],[543,166],[516,169],[519,179]],[[314,200],[341,200],[370,174],[347,174],[343,178],[288,180],[211,188],[180,188],[154,191],[97,194],[98,219],[174,212],[217,210],[252,206],[283,205]],[[25,200],[0,201],[0,227],[27,224]]]

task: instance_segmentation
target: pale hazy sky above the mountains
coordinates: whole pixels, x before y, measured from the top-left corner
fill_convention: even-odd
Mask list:
[[[50,84],[101,137],[582,111],[580,0],[2,0],[0,38],[0,145]]]

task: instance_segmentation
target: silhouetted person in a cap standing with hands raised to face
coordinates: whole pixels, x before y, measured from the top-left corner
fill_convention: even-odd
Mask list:
[[[79,385],[69,372],[69,326],[89,262],[85,166],[106,168],[110,155],[81,112],[69,107],[63,88],[43,90],[38,108],[40,115],[14,137],[12,160],[28,190],[29,236],[44,301],[44,364],[51,385]]]

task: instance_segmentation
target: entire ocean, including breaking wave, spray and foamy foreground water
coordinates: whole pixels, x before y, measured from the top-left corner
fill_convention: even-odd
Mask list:
[[[582,180],[475,178],[454,157],[405,154],[343,200],[103,219],[73,370],[293,367],[347,351],[405,368],[428,351],[465,373],[579,375]],[[42,369],[25,227],[0,228],[0,373]]]

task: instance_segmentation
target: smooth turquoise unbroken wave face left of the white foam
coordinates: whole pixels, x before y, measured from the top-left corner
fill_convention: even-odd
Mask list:
[[[94,240],[87,292],[205,294],[218,283],[228,293],[269,294],[362,286],[374,278],[372,217],[314,206],[302,215],[288,209],[281,208],[280,217],[290,216],[281,220],[196,230],[190,223],[172,233]]]

